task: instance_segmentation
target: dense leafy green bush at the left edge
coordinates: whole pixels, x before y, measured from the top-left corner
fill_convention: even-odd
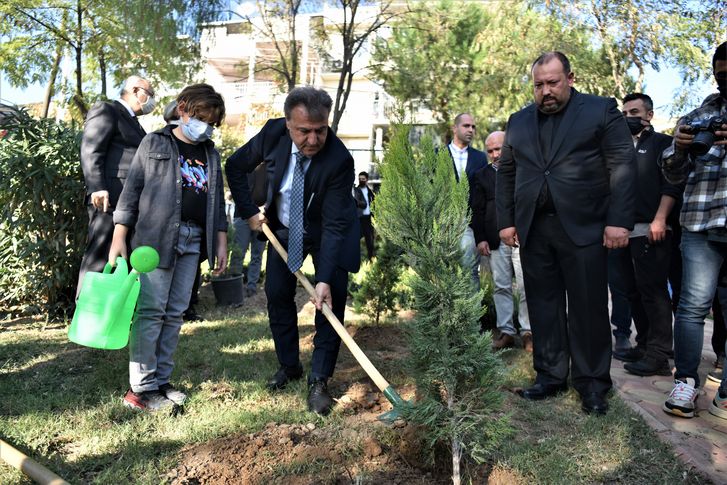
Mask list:
[[[80,132],[22,109],[0,129],[0,308],[63,316],[88,221]]]

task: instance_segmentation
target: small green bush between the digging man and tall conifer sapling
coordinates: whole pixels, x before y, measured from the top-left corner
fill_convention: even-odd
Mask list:
[[[362,266],[360,286],[353,292],[353,306],[378,325],[381,316],[393,312],[399,302],[403,261],[399,249],[383,240],[376,256]]]

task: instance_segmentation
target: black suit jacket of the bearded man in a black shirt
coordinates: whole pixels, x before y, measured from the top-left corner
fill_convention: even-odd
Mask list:
[[[523,246],[546,180],[563,228],[577,246],[601,241],[607,225],[634,227],[634,146],[616,101],[574,89],[570,103],[548,160],[540,149],[534,104],[507,124],[497,172],[497,223],[499,229],[515,226]]]

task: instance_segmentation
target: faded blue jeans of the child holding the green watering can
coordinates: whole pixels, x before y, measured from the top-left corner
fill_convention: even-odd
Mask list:
[[[180,224],[172,266],[139,276],[141,291],[129,337],[129,383],[134,392],[154,391],[169,382],[201,242],[201,227]]]

